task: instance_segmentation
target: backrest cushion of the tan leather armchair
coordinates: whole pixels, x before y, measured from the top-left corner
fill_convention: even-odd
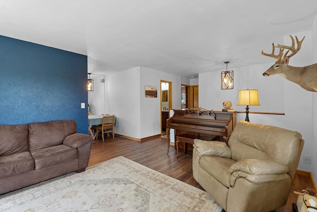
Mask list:
[[[240,121],[234,128],[228,146],[231,158],[270,159],[296,171],[304,140],[299,132]]]

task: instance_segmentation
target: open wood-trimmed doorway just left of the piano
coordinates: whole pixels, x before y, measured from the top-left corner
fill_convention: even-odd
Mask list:
[[[166,135],[166,120],[172,108],[172,82],[160,80],[160,135]]]

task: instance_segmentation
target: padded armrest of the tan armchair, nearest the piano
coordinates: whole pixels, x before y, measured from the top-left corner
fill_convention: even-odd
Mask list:
[[[196,148],[197,155],[199,158],[201,158],[204,155],[231,158],[230,148],[227,146],[225,142],[194,139],[193,146],[194,148]]]

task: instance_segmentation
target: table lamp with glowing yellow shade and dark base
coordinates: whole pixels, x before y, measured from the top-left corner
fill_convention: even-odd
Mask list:
[[[246,121],[249,121],[249,106],[259,106],[258,90],[240,90],[237,106],[246,107]]]

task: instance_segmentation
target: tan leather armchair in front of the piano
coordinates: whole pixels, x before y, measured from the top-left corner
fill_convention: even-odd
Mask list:
[[[196,139],[193,146],[194,178],[226,212],[270,212],[287,202],[304,140],[240,121],[228,145]]]

